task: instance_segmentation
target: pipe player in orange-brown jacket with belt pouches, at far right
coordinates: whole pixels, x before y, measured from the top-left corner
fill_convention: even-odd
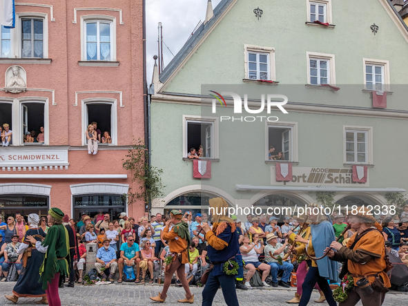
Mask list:
[[[353,306],[359,300],[363,306],[380,306],[391,287],[386,273],[391,264],[385,256],[382,227],[367,212],[368,209],[361,207],[356,215],[349,218],[349,224],[356,233],[345,247],[336,241],[330,245],[337,252],[330,250],[328,257],[344,262],[340,273],[340,287],[344,283],[344,292],[342,288],[339,306]]]

